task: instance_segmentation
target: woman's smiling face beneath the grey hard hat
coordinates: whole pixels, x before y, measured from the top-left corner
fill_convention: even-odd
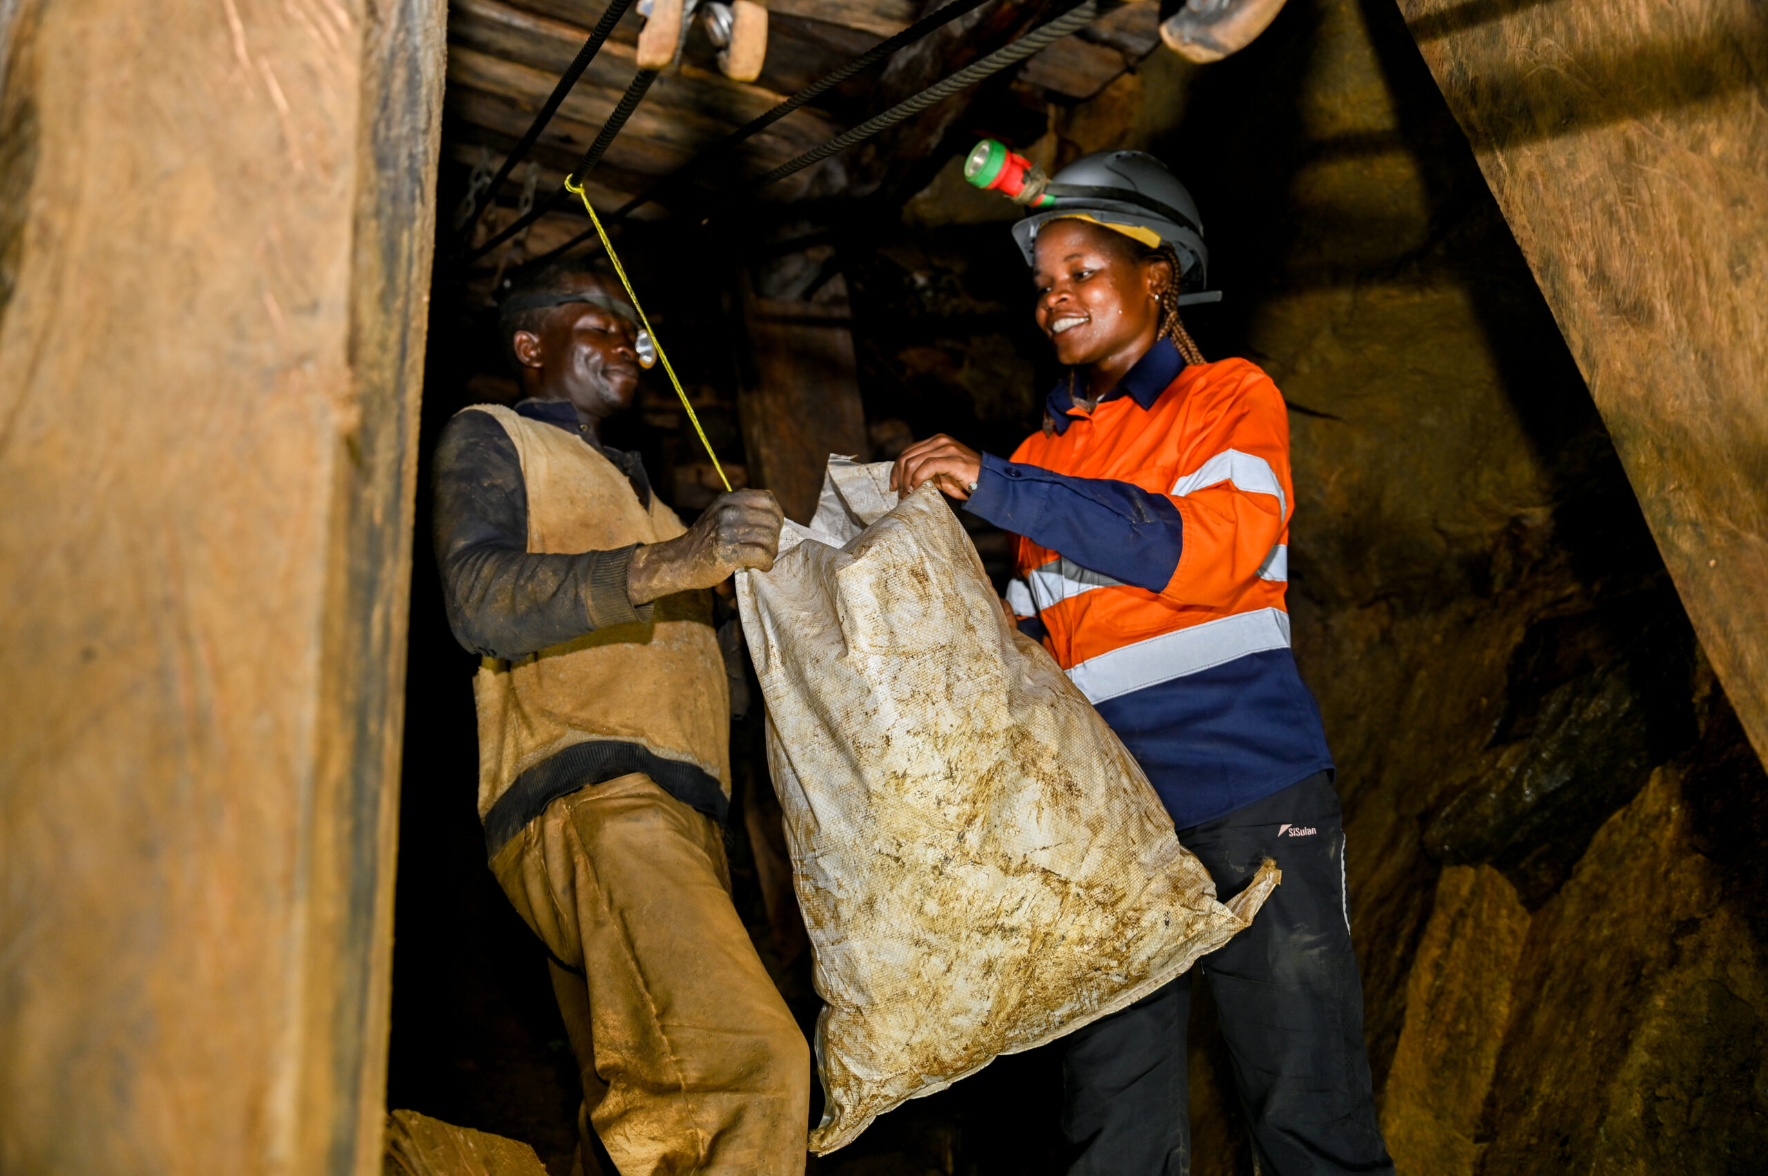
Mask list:
[[[1172,281],[1172,267],[1139,260],[1135,242],[1121,233],[1061,219],[1038,230],[1033,281],[1038,325],[1055,345],[1057,361],[1128,366],[1160,334],[1160,292]]]

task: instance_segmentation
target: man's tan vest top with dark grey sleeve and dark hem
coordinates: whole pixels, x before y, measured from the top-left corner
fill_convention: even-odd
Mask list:
[[[488,654],[474,679],[486,852],[555,798],[633,771],[723,821],[730,711],[711,592],[626,599],[631,548],[674,539],[681,520],[642,467],[537,405],[465,409],[437,449],[449,619]]]

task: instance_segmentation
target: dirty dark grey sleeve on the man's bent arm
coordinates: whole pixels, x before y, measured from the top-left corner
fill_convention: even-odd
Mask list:
[[[523,658],[651,615],[626,596],[633,548],[529,554],[522,458],[488,412],[461,412],[435,460],[435,545],[454,638],[479,656]]]

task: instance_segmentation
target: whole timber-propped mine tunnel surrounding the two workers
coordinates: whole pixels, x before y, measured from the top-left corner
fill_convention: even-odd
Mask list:
[[[523,400],[499,302],[605,256],[587,203],[672,368],[601,444],[682,523],[727,477],[806,523],[829,454],[1006,458],[1066,370],[1025,207],[965,179],[985,140],[1170,168],[1208,242],[1183,324],[1282,393],[1287,631],[1393,1171],[1757,1171],[1756,5],[1252,4],[1280,11],[1199,62],[1162,39],[1183,5],[1098,4],[764,187],[1073,4],[971,4],[737,143],[939,0],[767,0],[743,80],[732,9],[690,4],[624,124],[668,0],[212,7],[0,5],[0,1171],[591,1171],[552,951],[486,868],[438,440]],[[1006,592],[1013,536],[956,518]],[[730,900],[815,1036],[732,665]],[[1269,1172],[1206,985],[1188,1017],[1190,1171]],[[1001,1056],[804,1171],[1068,1172],[1063,1084],[1054,1047]],[[539,1167],[414,1167],[414,1123]]]

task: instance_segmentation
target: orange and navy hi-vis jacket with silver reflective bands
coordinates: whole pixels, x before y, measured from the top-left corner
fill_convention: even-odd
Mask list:
[[[1091,412],[985,454],[967,509],[1018,536],[1008,603],[1185,828],[1331,767],[1289,651],[1289,417],[1245,359],[1160,340]],[[1059,405],[1059,409],[1057,409]]]

